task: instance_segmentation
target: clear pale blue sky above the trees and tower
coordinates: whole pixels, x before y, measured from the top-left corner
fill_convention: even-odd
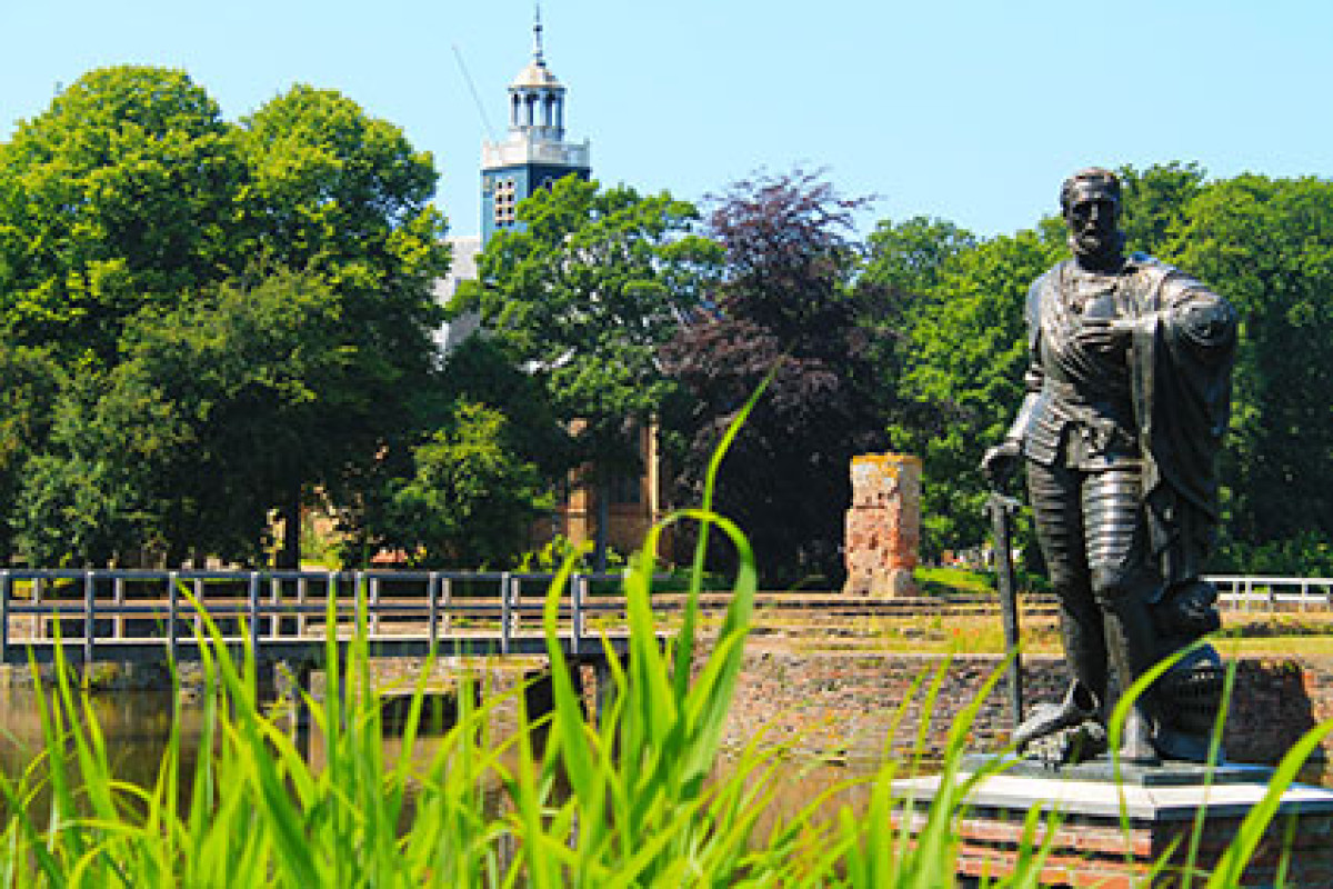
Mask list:
[[[1032,225],[1088,164],[1333,176],[1326,0],[547,0],[567,123],[604,183],[698,199],[754,169],[828,168],[874,217]],[[339,89],[435,155],[475,233],[485,113],[531,52],[528,0],[0,0],[0,140],[57,84],[184,68],[228,119],[293,83]]]

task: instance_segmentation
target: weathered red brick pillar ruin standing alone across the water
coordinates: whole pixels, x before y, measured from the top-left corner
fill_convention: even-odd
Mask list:
[[[921,460],[900,453],[852,458],[844,593],[893,598],[916,593],[921,542]]]

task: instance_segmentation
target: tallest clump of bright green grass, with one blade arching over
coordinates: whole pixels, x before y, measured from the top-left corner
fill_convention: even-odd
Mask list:
[[[661,654],[651,606],[653,561],[648,556],[656,552],[666,524],[685,517],[721,526],[733,538],[742,564],[722,637],[693,684],[688,681],[689,661],[677,661],[676,669],[685,670],[686,680],[677,682],[670,680],[668,661]],[[708,837],[749,836],[748,826],[737,829],[744,818],[720,822],[704,814],[701,788],[716,761],[722,722],[740,669],[740,644],[748,632],[756,588],[753,554],[738,529],[720,516],[686,510],[672,516],[668,522],[649,532],[627,574],[628,678],[613,665],[617,704],[609,725],[604,721],[597,733],[585,725],[557,634],[559,602],[568,581],[568,565],[548,589],[544,608],[556,698],[553,728],[583,818],[577,840],[580,866],[596,869],[612,882],[627,885],[651,885],[669,878],[701,850],[713,856],[722,854],[722,849],[734,852],[734,840],[709,842]],[[688,632],[694,632],[692,625]],[[613,740],[617,737],[619,744]],[[531,788],[520,786],[519,794],[529,806],[533,805]],[[613,800],[609,813],[608,798]],[[525,810],[521,817],[529,833],[537,829],[531,812]],[[608,832],[609,825],[615,825],[615,836]],[[616,854],[619,864],[596,861],[599,854]],[[540,872],[539,880],[555,878],[548,870],[549,862],[533,864]]]

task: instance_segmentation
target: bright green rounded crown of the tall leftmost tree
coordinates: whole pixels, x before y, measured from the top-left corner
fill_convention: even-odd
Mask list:
[[[145,307],[236,268],[233,128],[180,71],[92,71],[0,145],[0,327],[61,360],[116,361]]]

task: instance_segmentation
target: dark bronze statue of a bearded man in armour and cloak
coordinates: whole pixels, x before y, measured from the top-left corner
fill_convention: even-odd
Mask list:
[[[1112,668],[1128,686],[1218,626],[1200,572],[1237,320],[1194,277],[1125,253],[1114,173],[1074,173],[1060,207],[1073,256],[1028,293],[1028,395],[982,469],[1026,464],[1070,669],[1064,700],[1034,708],[1014,740],[1069,762],[1105,749]],[[1121,758],[1206,758],[1220,688],[1216,652],[1194,649],[1138,698]]]

